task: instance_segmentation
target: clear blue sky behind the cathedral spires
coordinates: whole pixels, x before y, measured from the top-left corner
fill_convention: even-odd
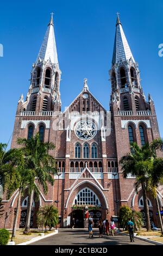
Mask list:
[[[92,94],[109,110],[111,67],[116,13],[141,71],[143,90],[155,102],[161,137],[162,67],[158,45],[163,43],[162,0],[157,1],[3,1],[0,15],[1,133],[7,142],[14,127],[17,101],[30,85],[30,71],[53,11],[62,110],[68,106],[88,80]]]

